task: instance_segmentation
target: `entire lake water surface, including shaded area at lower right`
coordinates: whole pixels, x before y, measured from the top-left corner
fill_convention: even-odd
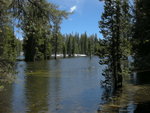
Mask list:
[[[17,62],[16,82],[0,92],[0,113],[150,113],[150,73],[131,75],[122,91],[101,88],[98,57]]]

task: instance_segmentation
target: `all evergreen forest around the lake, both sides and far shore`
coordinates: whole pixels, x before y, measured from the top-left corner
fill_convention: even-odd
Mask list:
[[[15,81],[20,52],[29,63],[53,60],[51,55],[59,59],[57,54],[98,56],[99,65],[105,65],[101,85],[112,92],[123,90],[134,72],[149,72],[150,0],[99,2],[104,4],[98,22],[103,37],[62,34],[63,20],[73,14],[47,0],[0,0],[0,91]],[[17,28],[23,40],[16,37]]]

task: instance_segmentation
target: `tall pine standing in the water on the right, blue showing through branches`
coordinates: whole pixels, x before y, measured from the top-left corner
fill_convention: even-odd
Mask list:
[[[126,48],[123,41],[129,37],[125,34],[129,23],[125,25],[122,21],[124,14],[129,13],[128,6],[125,6],[126,3],[128,4],[127,0],[105,0],[104,13],[99,22],[101,33],[104,36],[104,45],[102,45],[104,49],[100,51],[100,63],[107,64],[108,67],[104,74],[105,82],[109,84],[110,81],[113,81],[115,89],[122,86],[124,72],[122,62],[128,57],[123,49]],[[124,21],[129,22],[128,18],[125,18]]]

